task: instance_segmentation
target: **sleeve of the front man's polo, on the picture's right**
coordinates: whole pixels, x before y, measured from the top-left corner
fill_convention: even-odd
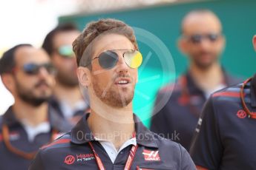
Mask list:
[[[180,146],[181,150],[181,169],[182,170],[195,170],[196,166],[194,165],[193,160],[191,159],[190,155],[188,154],[187,150]]]

